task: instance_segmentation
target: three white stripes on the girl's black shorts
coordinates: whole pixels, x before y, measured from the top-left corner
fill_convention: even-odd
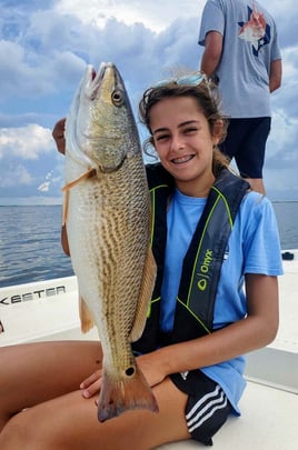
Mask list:
[[[206,406],[198,411],[202,403],[206,403]],[[217,384],[213,392],[203,396],[186,414],[188,431],[191,433],[196,428],[199,428],[206,420],[212,417],[218,409],[226,408],[227,403],[228,399],[225,392],[220,386]]]

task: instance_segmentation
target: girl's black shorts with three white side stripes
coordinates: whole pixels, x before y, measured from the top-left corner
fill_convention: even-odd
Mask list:
[[[173,373],[170,378],[178,389],[188,394],[186,421],[191,438],[212,446],[212,436],[231,412],[226,393],[200,370]]]

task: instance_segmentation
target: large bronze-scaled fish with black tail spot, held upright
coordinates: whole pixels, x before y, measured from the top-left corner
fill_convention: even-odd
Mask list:
[[[156,279],[150,201],[137,126],[117,68],[88,66],[66,122],[64,222],[81,328],[103,350],[99,421],[157,411],[130,343],[143,330]]]

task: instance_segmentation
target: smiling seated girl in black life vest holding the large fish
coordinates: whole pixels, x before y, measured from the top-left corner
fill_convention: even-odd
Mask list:
[[[98,342],[1,348],[2,450],[141,450],[189,438],[211,444],[229,413],[240,413],[242,354],[277,333],[282,270],[272,207],[217,148],[226,122],[213,88],[202,73],[162,81],[145,92],[140,118],[160,160],[147,168],[158,277],[133,350],[159,412],[98,422]],[[63,124],[53,129],[61,152]]]

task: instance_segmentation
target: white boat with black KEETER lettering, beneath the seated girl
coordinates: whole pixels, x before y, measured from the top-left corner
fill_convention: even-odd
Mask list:
[[[213,437],[215,448],[220,450],[298,449],[298,249],[286,253],[285,274],[279,278],[279,330],[272,343],[247,354],[242,416],[230,417]],[[76,277],[0,288],[0,347],[98,339],[96,328],[86,334],[80,331]],[[199,447],[187,440],[158,450]]]

